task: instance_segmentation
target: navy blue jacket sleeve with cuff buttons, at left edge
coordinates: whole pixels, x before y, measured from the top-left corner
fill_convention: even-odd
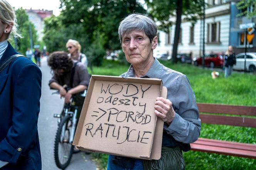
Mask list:
[[[35,64],[25,65],[13,87],[12,126],[0,142],[0,160],[17,163],[34,145],[40,110],[42,73]]]

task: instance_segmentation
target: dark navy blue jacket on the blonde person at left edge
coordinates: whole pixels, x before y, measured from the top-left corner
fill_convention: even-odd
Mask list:
[[[17,52],[8,42],[0,63]],[[18,57],[0,73],[1,170],[41,170],[37,132],[42,73],[31,60]]]

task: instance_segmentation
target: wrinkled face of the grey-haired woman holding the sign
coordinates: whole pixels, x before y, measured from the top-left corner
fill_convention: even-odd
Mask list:
[[[153,60],[153,49],[157,47],[157,37],[150,43],[144,31],[133,30],[123,35],[122,47],[127,62],[132,65],[143,65]]]

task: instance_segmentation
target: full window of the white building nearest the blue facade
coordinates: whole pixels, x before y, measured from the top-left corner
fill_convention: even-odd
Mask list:
[[[220,29],[221,23],[208,23],[207,24],[207,43],[219,43],[220,42]]]

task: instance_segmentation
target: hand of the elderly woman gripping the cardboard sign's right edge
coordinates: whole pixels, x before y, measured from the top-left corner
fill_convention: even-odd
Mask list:
[[[166,122],[168,125],[172,123],[175,117],[175,112],[172,108],[172,102],[163,97],[157,97],[155,102],[155,114]]]

